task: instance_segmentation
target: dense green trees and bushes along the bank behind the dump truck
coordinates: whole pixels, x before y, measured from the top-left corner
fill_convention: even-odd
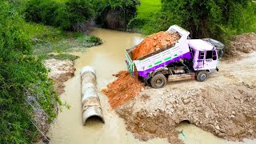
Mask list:
[[[158,2],[155,6],[159,6]],[[189,30],[192,38],[211,37],[222,41],[234,34],[256,31],[256,4],[250,0],[161,2],[160,10],[153,10],[152,14],[143,8],[142,1],[142,6],[138,6],[138,17],[130,22],[130,28],[152,34],[177,24]],[[146,19],[149,15],[150,18]]]

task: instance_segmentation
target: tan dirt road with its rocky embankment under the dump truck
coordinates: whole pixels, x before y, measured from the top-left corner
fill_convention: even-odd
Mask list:
[[[175,127],[188,121],[231,141],[256,138],[256,53],[237,62],[222,62],[206,82],[169,82],[146,87],[116,111],[126,129],[141,140],[168,138],[181,142]]]

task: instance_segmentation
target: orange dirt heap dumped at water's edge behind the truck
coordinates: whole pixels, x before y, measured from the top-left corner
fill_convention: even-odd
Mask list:
[[[128,71],[119,71],[114,74],[117,80],[107,86],[107,90],[102,90],[109,98],[110,106],[115,108],[134,98],[144,87],[144,83],[138,77],[131,77]]]

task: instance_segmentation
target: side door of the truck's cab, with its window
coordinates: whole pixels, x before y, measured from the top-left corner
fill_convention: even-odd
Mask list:
[[[218,65],[216,50],[206,50],[206,57],[203,65],[205,70],[216,69],[216,66]]]

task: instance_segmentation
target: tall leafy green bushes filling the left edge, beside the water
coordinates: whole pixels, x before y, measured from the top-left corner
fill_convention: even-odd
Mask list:
[[[31,143],[38,130],[34,114],[51,122],[62,106],[42,59],[33,55],[26,23],[10,2],[0,2],[0,143]]]

